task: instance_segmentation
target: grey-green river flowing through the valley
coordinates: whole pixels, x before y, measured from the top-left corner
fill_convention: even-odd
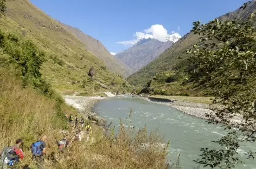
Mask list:
[[[107,119],[107,124],[112,121],[112,127],[118,130],[119,118],[125,119],[132,109],[132,125],[142,128],[145,124],[148,131],[159,126],[159,131],[165,136],[165,141],[170,140],[170,159],[175,162],[177,155],[181,153],[180,163],[182,168],[194,168],[193,162],[199,158],[200,148],[217,148],[210,142],[217,140],[226,134],[221,125],[208,124],[206,120],[185,114],[169,106],[158,105],[139,98],[116,97],[102,100],[94,107],[94,111]],[[116,130],[116,132],[117,132]],[[242,155],[241,164],[236,168],[256,169],[256,160],[246,160],[244,152],[256,151],[255,144],[243,143],[239,148]]]

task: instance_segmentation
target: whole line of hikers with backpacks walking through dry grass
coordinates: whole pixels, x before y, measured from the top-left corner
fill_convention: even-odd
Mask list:
[[[65,119],[73,126],[73,115],[71,114],[68,118],[67,113],[65,114]],[[75,128],[78,128],[78,117],[75,115]],[[80,118],[80,127],[81,130],[84,128],[84,118]],[[87,134],[87,142],[89,141],[89,136],[92,134],[92,127],[88,124],[85,127],[85,131]],[[57,145],[59,147],[59,152],[63,153],[67,146],[69,145],[69,141],[66,138],[66,134],[63,135],[63,139],[60,141],[57,141]],[[46,155],[46,140],[47,137],[44,135],[40,140],[34,142],[30,145],[30,151],[32,154],[31,160],[35,161],[37,167],[43,168],[44,165],[44,155]],[[75,137],[73,138],[73,141],[79,140],[81,141],[81,134],[79,130],[76,132]],[[1,154],[0,154],[0,169],[9,169],[9,168],[18,168],[17,164],[23,160],[24,153],[22,151],[23,148],[23,140],[17,139],[16,144],[14,146],[8,146],[3,148]],[[29,169],[29,167],[25,167],[26,169]]]

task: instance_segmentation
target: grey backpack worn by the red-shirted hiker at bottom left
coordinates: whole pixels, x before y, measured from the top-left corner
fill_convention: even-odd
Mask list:
[[[5,147],[0,155],[0,166],[7,164],[9,166],[15,165],[20,161],[20,157],[15,152],[16,147]]]

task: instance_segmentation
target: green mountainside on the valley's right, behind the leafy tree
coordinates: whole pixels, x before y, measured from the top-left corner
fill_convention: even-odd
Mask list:
[[[253,0],[252,3],[247,6],[246,10],[237,9],[233,12],[220,16],[219,19],[224,21],[231,19],[245,19],[256,10],[255,2],[256,0]],[[192,48],[193,44],[197,42],[199,42],[199,35],[194,35],[193,33],[189,32],[174,43],[169,49],[165,50],[164,53],[158,56],[156,60],[138,70],[138,72],[135,74],[129,76],[127,81],[129,81],[132,85],[144,86],[146,83],[152,80],[153,76],[156,74],[175,69],[177,70],[178,67],[188,65],[189,63],[187,63],[186,59],[189,57],[189,55],[183,54],[183,52],[188,48]],[[177,57],[182,59],[177,59]]]

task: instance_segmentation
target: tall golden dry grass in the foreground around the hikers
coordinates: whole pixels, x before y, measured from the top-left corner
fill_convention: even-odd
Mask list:
[[[74,142],[65,154],[59,154],[55,144],[62,137],[59,131],[65,128],[70,133],[73,131],[66,125],[63,112],[76,112],[32,88],[23,89],[15,76],[17,72],[11,69],[14,68],[0,68],[0,148],[14,145],[17,138],[22,138],[25,158],[21,166],[34,166],[29,147],[45,134],[48,137],[47,168],[168,168],[165,164],[168,145],[163,149],[155,147],[153,144],[162,142],[162,138],[155,132],[148,134],[146,128],[136,131],[120,127],[117,135],[106,137],[102,128],[93,126],[93,141]],[[140,149],[142,143],[149,146]]]

